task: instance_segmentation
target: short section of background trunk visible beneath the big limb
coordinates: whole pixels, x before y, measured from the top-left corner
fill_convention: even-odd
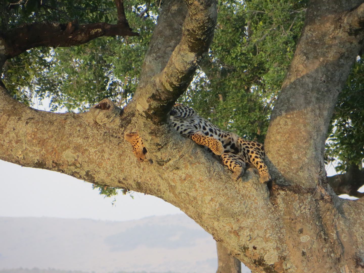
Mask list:
[[[216,242],[218,268],[216,273],[241,273],[241,261],[231,256],[221,243]]]

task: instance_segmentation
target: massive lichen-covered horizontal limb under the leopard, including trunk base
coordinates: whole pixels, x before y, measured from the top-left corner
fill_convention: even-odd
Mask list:
[[[361,230],[363,203],[325,199],[314,189],[298,187],[274,190],[269,196],[253,169],[233,181],[226,167],[177,132],[171,149],[161,155],[163,164],[141,163],[123,139],[132,129],[130,122],[108,100],[89,112],[56,114],[27,107],[0,87],[0,159],[160,197],[194,219],[253,272],[315,272],[312,263],[300,267],[302,247],[310,246],[323,260],[327,253],[340,257],[343,247],[354,251],[353,246],[363,245],[361,234],[344,233],[341,245],[336,240],[345,230]],[[292,242],[288,253],[286,246]]]

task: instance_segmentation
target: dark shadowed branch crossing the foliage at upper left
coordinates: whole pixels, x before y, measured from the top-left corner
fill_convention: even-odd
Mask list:
[[[77,21],[67,24],[32,23],[0,33],[3,39],[5,58],[13,58],[34,47],[70,47],[87,43],[101,36],[138,36],[132,32],[127,21],[115,25],[108,23],[81,24]]]

